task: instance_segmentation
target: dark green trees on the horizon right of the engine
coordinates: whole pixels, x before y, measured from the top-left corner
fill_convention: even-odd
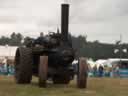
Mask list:
[[[120,53],[114,53],[115,49],[119,49],[120,45],[118,42],[116,44],[107,44],[100,43],[98,40],[93,42],[87,41],[87,38],[84,36],[74,37],[72,36],[73,48],[77,51],[77,55],[85,56],[87,58],[97,59],[107,59],[107,58],[119,58]],[[122,44],[121,49],[128,50],[128,44]],[[120,51],[122,54],[122,58],[128,58],[128,53],[124,53],[122,50]]]

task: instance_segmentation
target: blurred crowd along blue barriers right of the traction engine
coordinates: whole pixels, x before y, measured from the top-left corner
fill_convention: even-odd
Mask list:
[[[75,72],[77,73],[78,69],[78,61],[74,61],[72,63]],[[88,63],[88,76],[89,77],[128,77],[128,64],[127,67],[123,64],[113,64],[113,65],[103,65],[103,64],[95,64],[91,66]]]

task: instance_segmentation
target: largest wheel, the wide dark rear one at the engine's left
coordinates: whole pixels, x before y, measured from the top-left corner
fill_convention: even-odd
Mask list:
[[[15,55],[15,80],[18,84],[28,84],[32,79],[32,51],[20,47]]]

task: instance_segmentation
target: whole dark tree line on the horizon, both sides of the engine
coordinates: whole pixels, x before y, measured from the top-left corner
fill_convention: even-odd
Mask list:
[[[13,32],[10,37],[0,37],[0,45],[21,46],[27,42],[30,37],[23,37],[21,33]],[[115,44],[100,43],[98,40],[87,41],[87,36],[71,36],[72,45],[76,56],[85,56],[87,58],[106,59],[106,58],[128,58],[128,44],[121,44],[119,41]],[[24,39],[24,40],[23,40]],[[24,41],[24,42],[23,42]],[[115,50],[118,50],[115,52]],[[115,52],[115,53],[114,53]]]

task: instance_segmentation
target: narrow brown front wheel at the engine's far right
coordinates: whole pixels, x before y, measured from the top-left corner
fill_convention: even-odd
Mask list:
[[[86,58],[79,58],[78,73],[77,73],[77,87],[86,88],[87,85],[87,61]]]

